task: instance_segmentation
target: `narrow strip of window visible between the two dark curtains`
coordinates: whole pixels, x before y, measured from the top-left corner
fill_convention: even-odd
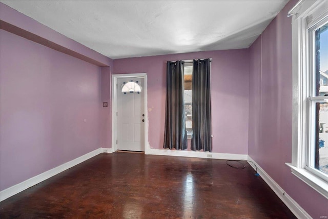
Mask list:
[[[190,138],[193,135],[193,119],[192,119],[192,77],[193,64],[185,63],[185,113],[186,113],[186,128],[187,136]]]

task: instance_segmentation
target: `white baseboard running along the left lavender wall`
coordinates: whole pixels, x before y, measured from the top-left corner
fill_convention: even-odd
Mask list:
[[[110,149],[110,148],[109,148]],[[27,188],[30,188],[31,186],[34,186],[42,181],[45,181],[47,180],[48,178],[54,176],[54,175],[57,175],[58,173],[60,172],[63,172],[79,163],[82,163],[88,159],[90,159],[91,157],[94,157],[100,153],[104,153],[104,148],[98,148],[94,151],[91,151],[90,153],[87,153],[85,155],[82,155],[80,157],[77,157],[75,158],[74,160],[72,161],[69,161],[65,164],[62,164],[58,167],[55,167],[51,170],[48,170],[44,173],[41,173],[37,176],[34,176],[32,178],[29,178],[28,180],[22,182],[22,183],[18,183],[8,189],[5,189],[3,191],[0,191],[0,202],[6,200],[7,198],[27,189]]]

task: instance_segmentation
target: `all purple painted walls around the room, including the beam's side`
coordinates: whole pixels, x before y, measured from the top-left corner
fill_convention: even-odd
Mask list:
[[[213,152],[249,154],[313,218],[326,199],[291,174],[292,46],[288,3],[250,49],[114,62],[0,3],[10,24],[111,67],[0,30],[0,190],[111,147],[110,75],[148,75],[149,144],[162,149],[166,61],[212,57]],[[113,69],[114,65],[114,69]],[[84,122],[84,119],[87,122]],[[311,199],[311,202],[309,202]]]

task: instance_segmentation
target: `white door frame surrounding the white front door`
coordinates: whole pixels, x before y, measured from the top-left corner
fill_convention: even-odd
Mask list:
[[[131,74],[112,74],[112,150],[117,151],[117,79],[142,77],[144,78],[144,87],[141,95],[144,95],[144,110],[145,110],[145,154],[148,154],[148,108],[147,108],[147,73],[131,73]]]

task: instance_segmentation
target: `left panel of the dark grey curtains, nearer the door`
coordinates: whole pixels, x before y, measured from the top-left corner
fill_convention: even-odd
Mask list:
[[[182,61],[167,64],[164,148],[187,149],[184,67]]]

